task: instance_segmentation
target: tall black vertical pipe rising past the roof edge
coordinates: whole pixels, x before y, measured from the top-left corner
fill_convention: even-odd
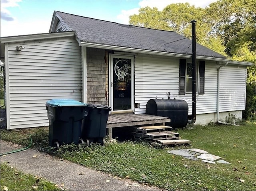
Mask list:
[[[192,121],[196,122],[196,21],[192,20]]]

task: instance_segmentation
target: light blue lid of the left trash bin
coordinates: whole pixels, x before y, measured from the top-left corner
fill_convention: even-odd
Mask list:
[[[46,106],[86,106],[86,104],[74,99],[52,99],[46,102]]]

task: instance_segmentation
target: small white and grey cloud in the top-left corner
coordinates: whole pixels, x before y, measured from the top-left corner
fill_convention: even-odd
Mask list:
[[[1,0],[0,1],[0,14],[1,19],[5,21],[14,21],[14,17],[12,17],[11,13],[7,10],[8,7],[16,7],[19,6],[18,2],[22,0]]]

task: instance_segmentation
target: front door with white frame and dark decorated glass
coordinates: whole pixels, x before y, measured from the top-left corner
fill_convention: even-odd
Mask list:
[[[112,112],[133,111],[134,57],[110,54],[110,105]]]

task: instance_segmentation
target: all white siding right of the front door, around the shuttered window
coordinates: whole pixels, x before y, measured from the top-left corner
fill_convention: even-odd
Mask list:
[[[178,95],[179,59],[137,55],[135,58],[135,114],[146,112],[150,99],[184,99],[188,114],[192,114],[192,93]],[[204,94],[196,94],[196,114],[215,113],[217,109],[217,65],[205,62]],[[246,68],[228,65],[220,69],[220,112],[244,110],[246,94]]]

